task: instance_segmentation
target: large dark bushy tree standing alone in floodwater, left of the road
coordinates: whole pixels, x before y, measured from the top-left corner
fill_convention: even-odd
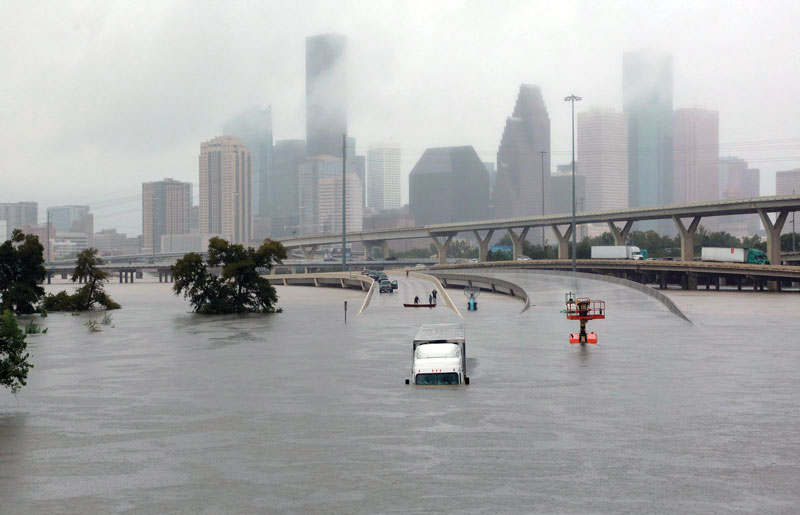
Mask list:
[[[286,248],[278,241],[265,240],[254,249],[211,238],[207,265],[219,268],[219,274],[191,252],[172,267],[172,289],[175,295],[183,293],[197,313],[272,313],[278,295],[259,271],[269,271],[283,259]]]

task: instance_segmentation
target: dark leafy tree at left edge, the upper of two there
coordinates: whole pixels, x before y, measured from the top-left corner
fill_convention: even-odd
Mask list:
[[[39,237],[14,229],[0,245],[0,310],[33,313],[44,295],[44,247]]]

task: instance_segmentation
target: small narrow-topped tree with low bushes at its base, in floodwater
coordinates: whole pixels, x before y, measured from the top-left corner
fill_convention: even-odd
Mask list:
[[[42,306],[47,311],[89,311],[95,304],[105,309],[119,309],[120,305],[109,297],[103,289],[103,283],[108,280],[108,274],[99,265],[103,260],[97,257],[97,249],[89,248],[78,253],[75,270],[72,272],[72,282],[85,283],[70,295],[65,291],[56,295],[47,295]]]

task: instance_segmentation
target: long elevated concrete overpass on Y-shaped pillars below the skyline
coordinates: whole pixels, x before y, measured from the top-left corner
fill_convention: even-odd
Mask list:
[[[706,217],[757,214],[767,232],[767,255],[772,263],[780,263],[780,235],[789,213],[800,211],[800,195],[784,197],[757,197],[750,199],[695,202],[669,206],[640,207],[616,211],[578,213],[577,224],[606,223],[617,245],[624,245],[634,222],[671,219],[681,237],[681,260],[692,261],[692,240],[700,220]],[[769,215],[775,214],[773,221]],[[377,229],[347,234],[348,243],[362,243],[367,248],[386,247],[389,240],[431,238],[439,251],[439,262],[447,261],[447,249],[453,237],[461,232],[472,232],[478,240],[480,260],[485,261],[489,241],[494,231],[505,230],[511,237],[514,259],[522,253],[522,242],[528,231],[535,227],[550,227],[558,239],[558,258],[569,259],[569,240],[572,236],[572,215],[569,213],[499,220],[479,220],[420,227]],[[341,244],[341,234],[318,234],[282,238],[287,248],[300,248],[306,257],[314,254],[320,245]]]

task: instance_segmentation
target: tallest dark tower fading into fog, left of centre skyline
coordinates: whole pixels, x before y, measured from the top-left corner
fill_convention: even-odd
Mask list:
[[[342,157],[347,133],[344,36],[306,38],[306,142],[309,156]]]

